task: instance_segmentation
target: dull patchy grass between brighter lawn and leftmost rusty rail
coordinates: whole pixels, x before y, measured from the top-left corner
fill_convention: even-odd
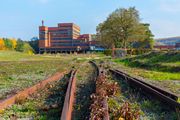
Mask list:
[[[30,87],[55,72],[64,71],[69,67],[67,66],[67,62],[60,60],[1,62],[0,99]]]

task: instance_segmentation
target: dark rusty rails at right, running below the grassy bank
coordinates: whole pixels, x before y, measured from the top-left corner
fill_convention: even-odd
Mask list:
[[[177,96],[169,93],[163,89],[157,88],[153,85],[150,85],[142,80],[139,80],[137,78],[131,77],[130,75],[128,75],[127,73],[124,73],[120,70],[112,70],[110,69],[110,71],[112,73],[115,73],[121,77],[124,78],[124,80],[127,80],[127,82],[130,85],[133,85],[135,87],[141,88],[142,90],[144,90],[145,92],[150,93],[151,95],[155,96],[156,98],[158,98],[159,100],[161,100],[164,103],[167,103],[167,105],[173,107],[173,108],[177,108],[180,109],[180,104],[176,101],[177,100]]]

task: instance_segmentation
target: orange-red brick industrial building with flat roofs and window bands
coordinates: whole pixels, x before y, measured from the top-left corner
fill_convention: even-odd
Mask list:
[[[74,23],[59,23],[57,27],[39,26],[39,52],[79,52],[94,46],[90,34],[80,34],[80,27]]]

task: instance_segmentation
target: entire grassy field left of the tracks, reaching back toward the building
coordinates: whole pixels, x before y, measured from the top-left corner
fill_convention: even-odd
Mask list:
[[[99,58],[98,55],[28,55],[15,51],[0,51],[0,100],[30,87],[55,72],[70,70],[81,60]],[[88,59],[86,59],[88,58]]]

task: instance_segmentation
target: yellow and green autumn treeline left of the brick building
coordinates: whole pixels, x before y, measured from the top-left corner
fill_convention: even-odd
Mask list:
[[[29,54],[35,52],[29,42],[14,38],[0,38],[0,50],[15,50]]]

